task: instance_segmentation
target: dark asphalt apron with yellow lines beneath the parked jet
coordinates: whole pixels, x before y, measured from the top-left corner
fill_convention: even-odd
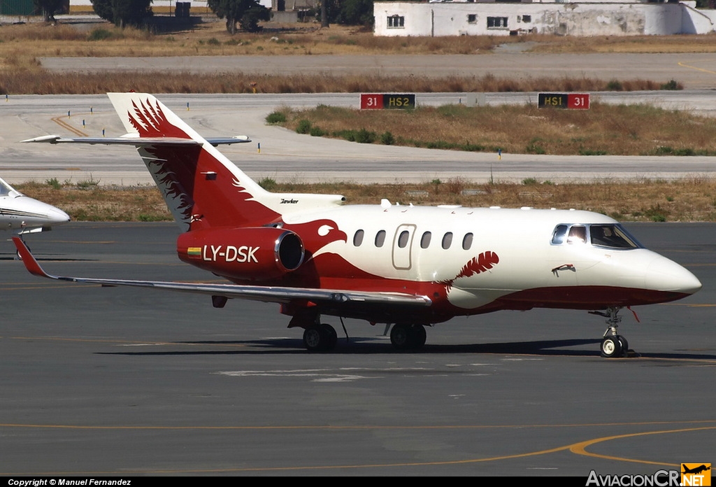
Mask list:
[[[0,475],[654,473],[716,451],[713,223],[630,224],[704,284],[624,312],[641,357],[603,360],[603,319],[454,319],[418,353],[347,321],[304,351],[274,305],[30,276],[0,248]],[[207,280],[171,223],[70,223],[27,238],[57,274]],[[626,311],[626,310],[625,310]],[[340,329],[337,319],[329,318]]]

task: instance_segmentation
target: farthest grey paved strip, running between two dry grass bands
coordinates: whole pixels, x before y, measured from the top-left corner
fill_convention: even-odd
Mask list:
[[[528,46],[528,44],[524,44]],[[361,74],[373,76],[675,79],[688,88],[713,87],[713,53],[581,53],[519,52],[515,45],[484,55],[383,54],[311,56],[178,56],[178,57],[44,57],[52,72],[183,72],[271,74]],[[260,87],[260,85],[259,85]]]

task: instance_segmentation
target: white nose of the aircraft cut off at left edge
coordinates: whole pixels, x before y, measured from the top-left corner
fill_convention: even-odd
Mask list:
[[[0,228],[19,235],[52,230],[67,223],[69,216],[59,208],[37,201],[0,179]]]

